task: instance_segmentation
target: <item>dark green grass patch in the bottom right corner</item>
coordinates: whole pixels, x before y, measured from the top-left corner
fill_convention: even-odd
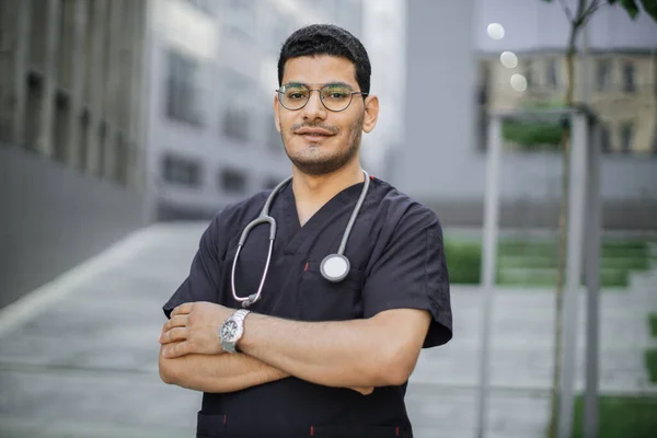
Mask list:
[[[575,400],[573,438],[584,438],[584,397]],[[599,438],[655,438],[657,436],[656,396],[600,396]]]

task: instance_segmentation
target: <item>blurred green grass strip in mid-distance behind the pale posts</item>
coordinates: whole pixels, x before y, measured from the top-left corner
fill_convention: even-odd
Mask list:
[[[497,284],[552,287],[556,284],[557,242],[548,239],[505,238],[498,243]],[[445,251],[453,284],[480,284],[482,246],[479,240],[446,239]],[[606,239],[600,251],[602,287],[626,287],[632,272],[650,268],[648,243]]]

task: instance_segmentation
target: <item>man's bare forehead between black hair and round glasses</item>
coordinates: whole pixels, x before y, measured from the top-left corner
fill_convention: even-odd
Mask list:
[[[354,88],[356,82],[356,67],[347,58],[336,56],[301,56],[288,59],[285,64],[283,83],[328,83],[345,82]]]

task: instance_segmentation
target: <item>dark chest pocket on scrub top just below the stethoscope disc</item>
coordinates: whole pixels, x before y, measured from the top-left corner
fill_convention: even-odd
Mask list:
[[[362,318],[364,273],[350,268],[339,283],[322,276],[320,262],[308,261],[299,284],[299,313],[304,321],[341,321]]]

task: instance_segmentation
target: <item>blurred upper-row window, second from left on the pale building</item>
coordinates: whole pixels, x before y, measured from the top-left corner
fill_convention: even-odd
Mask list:
[[[223,103],[221,130],[227,137],[241,141],[252,139],[250,110],[255,105],[254,89],[255,84],[250,78],[237,72],[226,74],[221,95]]]

